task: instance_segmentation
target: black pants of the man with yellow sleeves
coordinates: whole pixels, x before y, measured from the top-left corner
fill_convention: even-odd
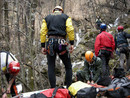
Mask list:
[[[47,44],[47,49],[50,51],[47,53],[47,61],[48,61],[48,77],[49,77],[51,88],[56,87],[55,60],[57,54],[59,55],[60,59],[65,65],[65,71],[66,71],[65,82],[67,87],[69,87],[72,83],[72,65],[71,65],[69,52],[66,51],[67,50],[66,45],[60,45],[58,39],[49,39]],[[64,51],[66,52],[60,54]]]

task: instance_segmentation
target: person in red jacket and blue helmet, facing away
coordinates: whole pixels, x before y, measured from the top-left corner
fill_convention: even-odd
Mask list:
[[[111,54],[115,49],[115,42],[112,34],[106,32],[107,25],[102,23],[100,25],[101,33],[95,40],[95,55],[99,56],[102,60],[102,74],[103,76],[109,76],[109,60]]]

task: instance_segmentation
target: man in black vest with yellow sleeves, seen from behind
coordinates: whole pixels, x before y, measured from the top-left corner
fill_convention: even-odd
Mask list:
[[[56,87],[55,60],[57,54],[65,65],[67,87],[72,83],[72,64],[69,52],[72,53],[74,50],[74,28],[72,19],[63,12],[61,6],[56,6],[53,13],[43,19],[40,31],[41,52],[44,55],[47,54],[48,77],[51,88]],[[48,37],[48,41],[45,45],[46,37]],[[69,51],[67,50],[67,37],[70,42]]]

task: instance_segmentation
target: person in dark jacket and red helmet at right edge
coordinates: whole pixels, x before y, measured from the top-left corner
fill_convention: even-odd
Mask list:
[[[130,69],[130,50],[127,39],[130,39],[130,34],[124,32],[123,26],[117,27],[118,33],[115,34],[115,50],[119,53],[120,67],[124,68],[125,54],[126,56],[126,70]]]

